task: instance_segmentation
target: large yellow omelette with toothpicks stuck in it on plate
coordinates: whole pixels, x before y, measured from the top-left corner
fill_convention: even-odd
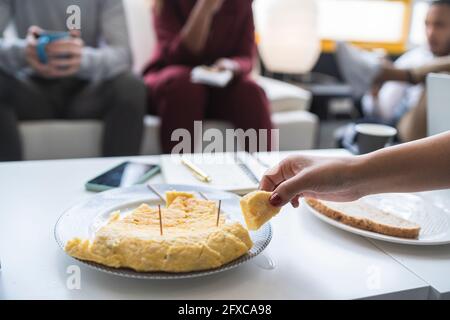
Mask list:
[[[142,204],[121,218],[111,215],[93,241],[79,238],[67,242],[66,252],[114,268],[139,272],[189,272],[218,268],[246,254],[253,246],[247,229],[238,222],[217,224],[216,202],[197,199],[193,194],[166,193],[161,208]]]

